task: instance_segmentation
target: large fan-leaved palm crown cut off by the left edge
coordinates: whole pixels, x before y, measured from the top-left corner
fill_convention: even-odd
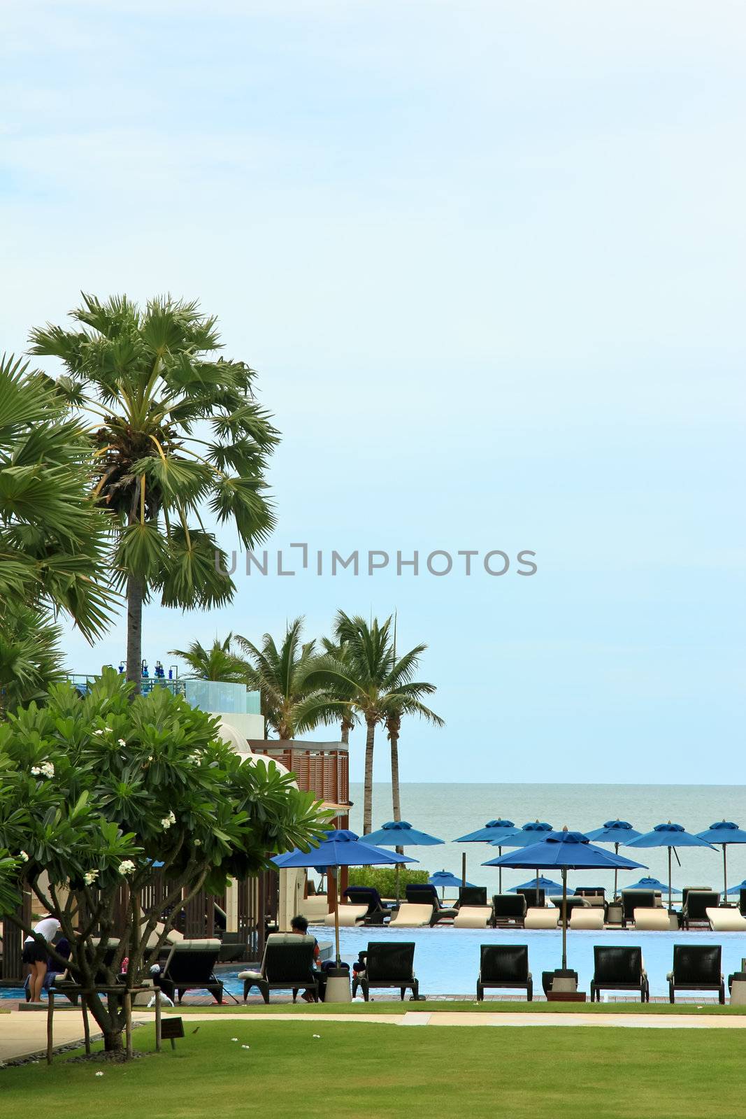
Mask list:
[[[91,498],[83,429],[54,383],[0,359],[0,706],[28,703],[62,675],[54,615],[92,641],[108,622],[106,518]]]

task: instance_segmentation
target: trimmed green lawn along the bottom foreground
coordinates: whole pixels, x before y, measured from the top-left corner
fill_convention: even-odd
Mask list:
[[[398,1027],[359,1022],[215,1022],[129,1065],[0,1073],[0,1113],[75,1119],[742,1119],[740,1031]],[[319,1038],[313,1035],[320,1034]],[[232,1041],[237,1037],[238,1041]],[[152,1045],[152,1029],[135,1032]],[[249,1045],[248,1050],[242,1044]],[[570,1093],[568,1096],[568,1092]],[[572,1099],[572,1104],[570,1104]],[[711,1110],[708,1107],[711,1106]]]

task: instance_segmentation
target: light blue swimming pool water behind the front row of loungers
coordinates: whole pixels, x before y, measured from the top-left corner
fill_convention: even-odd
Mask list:
[[[329,937],[329,928],[313,930],[315,937]],[[453,929],[447,925],[434,929],[387,928],[340,929],[342,959],[352,963],[369,940],[409,940],[415,942],[415,974],[423,995],[475,994],[479,972],[480,944],[528,944],[529,968],[533,974],[533,990],[541,994],[541,972],[561,966],[561,930],[554,929]],[[702,932],[635,932],[614,930],[567,933],[567,966],[578,972],[578,989],[589,991],[593,978],[594,944],[630,944],[642,948],[650,980],[650,994],[668,996],[667,974],[673,961],[673,946],[680,943],[721,944],[723,972],[727,977],[740,971],[746,957],[746,934],[730,932],[716,934]],[[621,994],[621,993],[620,993]],[[696,991],[687,995],[696,997]],[[381,997],[386,997],[381,995]],[[703,997],[709,997],[709,993]]]

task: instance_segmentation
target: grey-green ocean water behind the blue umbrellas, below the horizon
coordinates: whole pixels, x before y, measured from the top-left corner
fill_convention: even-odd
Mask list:
[[[350,784],[350,827],[362,831],[362,784]],[[655,824],[672,820],[687,831],[703,831],[715,820],[735,820],[746,828],[746,786],[719,784],[446,784],[405,783],[402,786],[402,818],[419,831],[444,839],[436,847],[410,847],[405,854],[418,859],[415,869],[446,869],[461,875],[462,853],[466,853],[466,878],[497,893],[498,871],[481,866],[498,855],[489,844],[456,844],[465,835],[495,817],[504,817],[521,827],[528,820],[546,820],[560,829],[589,831],[617,817],[627,820],[638,831],[649,831]],[[393,819],[391,787],[374,786],[374,828]],[[613,850],[613,847],[607,847]],[[503,848],[506,854],[508,848]],[[723,888],[723,848],[684,847],[678,853],[681,866],[673,858],[673,885]],[[620,888],[625,880],[636,882],[642,875],[653,875],[668,882],[668,852],[663,848],[620,848],[649,869],[620,873]],[[728,885],[746,878],[746,844],[728,847]],[[556,875],[553,875],[556,877]],[[531,877],[527,871],[502,872],[502,888],[518,885]],[[613,873],[602,871],[570,872],[568,885],[613,886]],[[448,892],[446,891],[446,896]]]

